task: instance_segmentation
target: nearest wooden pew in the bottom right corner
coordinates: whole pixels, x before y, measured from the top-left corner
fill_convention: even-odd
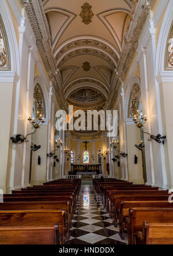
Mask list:
[[[137,233],[137,244],[173,244],[173,223],[148,223]]]

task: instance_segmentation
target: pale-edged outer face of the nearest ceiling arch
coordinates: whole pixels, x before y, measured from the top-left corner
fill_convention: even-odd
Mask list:
[[[80,36],[81,37],[81,36]],[[82,36],[83,37],[83,36]],[[65,45],[62,45],[58,47],[58,49],[55,52],[55,58],[56,60],[59,60],[62,58],[62,56],[65,55],[65,53],[69,52],[69,50],[73,50],[77,47],[82,46],[88,46],[88,47],[95,47],[95,49],[99,49],[100,51],[103,51],[114,58],[116,63],[119,60],[119,54],[116,52],[116,49],[114,46],[108,45],[107,42],[103,42],[100,39],[93,39],[93,36],[90,38],[90,36],[85,36],[85,38],[72,38],[71,42],[65,42]]]

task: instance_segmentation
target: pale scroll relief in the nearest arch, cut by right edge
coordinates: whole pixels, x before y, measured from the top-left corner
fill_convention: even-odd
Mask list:
[[[173,70],[173,23],[167,41],[165,68]]]

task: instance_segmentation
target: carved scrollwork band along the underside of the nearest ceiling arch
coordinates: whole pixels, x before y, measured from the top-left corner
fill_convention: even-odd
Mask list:
[[[117,66],[117,64],[115,63],[115,60],[111,56],[109,56],[106,52],[101,52],[98,49],[93,49],[89,47],[86,48],[86,46],[82,46],[80,48],[77,48],[76,50],[69,51],[66,54],[64,54],[62,58],[60,58],[57,61],[57,67],[61,68],[66,63],[66,61],[70,60],[70,58],[74,58],[76,56],[85,55],[85,54],[87,55],[90,54],[90,55],[94,55],[102,58],[103,60],[107,61],[107,63],[110,64],[112,68],[115,68]]]

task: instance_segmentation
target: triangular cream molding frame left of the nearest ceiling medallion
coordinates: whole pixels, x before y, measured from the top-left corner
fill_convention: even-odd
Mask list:
[[[69,10],[65,10],[62,8],[56,8],[56,7],[47,8],[44,10],[44,12],[46,13],[47,20],[48,20],[48,25],[49,25],[50,35],[51,35],[52,50],[54,50],[59,39],[61,38],[61,35],[66,30],[66,28],[70,25],[70,23],[76,18],[77,14],[70,12]],[[57,31],[57,35],[55,36],[54,39],[52,38],[50,17],[48,16],[48,14],[50,14],[51,12],[57,12],[66,17],[65,22],[61,25],[61,27]]]

